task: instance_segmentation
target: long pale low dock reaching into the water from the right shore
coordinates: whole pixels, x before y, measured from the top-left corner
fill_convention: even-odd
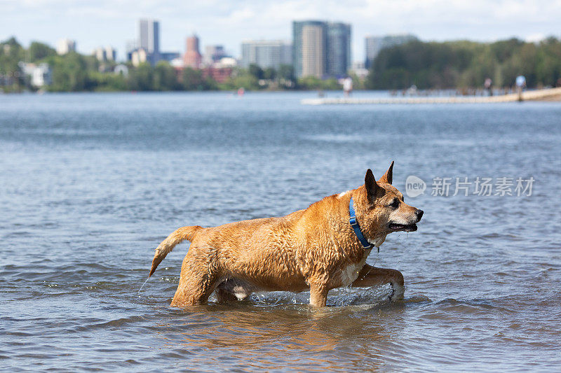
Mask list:
[[[543,90],[524,91],[498,96],[450,96],[450,97],[379,97],[379,98],[317,98],[303,99],[302,105],[341,105],[341,104],[492,104],[515,101],[561,101],[561,87]]]

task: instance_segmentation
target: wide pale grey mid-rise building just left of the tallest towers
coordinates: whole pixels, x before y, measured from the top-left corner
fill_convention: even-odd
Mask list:
[[[292,45],[284,41],[243,41],[241,44],[240,65],[247,69],[256,64],[262,69],[292,64]]]

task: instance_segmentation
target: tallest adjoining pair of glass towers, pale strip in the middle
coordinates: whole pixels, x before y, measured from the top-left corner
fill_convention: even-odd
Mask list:
[[[342,77],[351,67],[351,25],[341,22],[292,22],[295,75]]]

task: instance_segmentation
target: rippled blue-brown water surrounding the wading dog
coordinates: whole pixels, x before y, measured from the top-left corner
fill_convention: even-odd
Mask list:
[[[2,369],[558,371],[561,105],[299,104],[313,95],[0,96]],[[391,160],[400,190],[428,182],[407,199],[419,231],[377,259],[404,302],[379,287],[320,311],[306,293],[171,308],[185,245],[138,293],[175,228],[285,215]],[[477,176],[535,183],[431,196],[435,177]]]

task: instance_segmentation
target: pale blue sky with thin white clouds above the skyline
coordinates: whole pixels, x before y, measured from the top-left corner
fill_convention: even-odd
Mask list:
[[[561,0],[0,0],[0,41],[23,45],[60,38],[79,52],[111,45],[124,57],[137,20],[160,21],[161,51],[184,52],[186,36],[224,45],[238,57],[241,41],[292,38],[292,20],[352,25],[352,59],[365,57],[367,35],[414,34],[424,41],[496,41],[512,36],[561,38]]]

